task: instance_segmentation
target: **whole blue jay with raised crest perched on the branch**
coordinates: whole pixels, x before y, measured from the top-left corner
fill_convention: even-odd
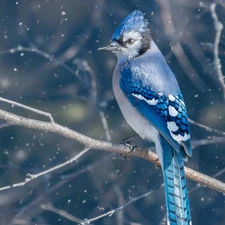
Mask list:
[[[113,91],[128,124],[153,141],[165,183],[167,225],[191,225],[184,161],[192,155],[186,107],[177,80],[152,40],[140,10],[100,48],[116,54]]]

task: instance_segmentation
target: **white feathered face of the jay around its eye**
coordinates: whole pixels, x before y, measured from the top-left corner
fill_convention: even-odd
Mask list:
[[[121,51],[115,52],[116,55],[118,57],[122,55],[126,58],[133,58],[139,55],[139,51],[142,46],[141,39],[142,36],[139,32],[130,31],[129,33],[125,33],[121,40]]]

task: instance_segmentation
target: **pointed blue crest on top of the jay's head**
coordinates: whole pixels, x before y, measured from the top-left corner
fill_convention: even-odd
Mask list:
[[[121,35],[130,31],[139,31],[140,33],[148,30],[148,21],[145,19],[145,14],[140,10],[135,10],[128,15],[117,27],[112,36],[112,40],[119,40]]]

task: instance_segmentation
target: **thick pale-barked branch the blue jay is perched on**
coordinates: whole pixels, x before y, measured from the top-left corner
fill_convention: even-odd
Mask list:
[[[55,122],[43,122],[40,120],[28,119],[1,109],[0,119],[12,125],[59,134],[83,144],[88,149],[116,152],[129,156],[138,156],[155,164],[157,164],[158,161],[157,155],[150,150],[137,147],[133,151],[130,151],[130,148],[125,145],[96,140],[77,131],[61,126]],[[188,167],[185,167],[185,173],[187,175],[187,178],[225,194],[225,183],[199,173],[195,170],[192,170]]]

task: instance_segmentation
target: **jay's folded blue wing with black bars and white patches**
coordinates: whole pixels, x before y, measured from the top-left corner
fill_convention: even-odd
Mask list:
[[[192,155],[190,128],[183,97],[156,93],[130,69],[121,69],[120,87],[131,104],[164,136],[185,159]]]

